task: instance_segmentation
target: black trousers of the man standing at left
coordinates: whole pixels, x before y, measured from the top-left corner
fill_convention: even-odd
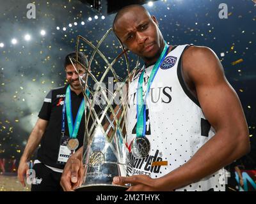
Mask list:
[[[61,173],[52,171],[42,163],[33,166],[35,181],[31,184],[31,191],[63,191],[60,186]]]

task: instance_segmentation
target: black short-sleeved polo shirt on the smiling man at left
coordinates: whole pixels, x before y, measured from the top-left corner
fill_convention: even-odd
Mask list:
[[[68,85],[52,89],[44,99],[44,104],[38,114],[40,119],[48,120],[47,128],[41,140],[41,147],[38,149],[37,159],[42,163],[55,168],[64,168],[64,165],[57,164],[58,153],[60,149],[61,139],[61,119],[62,108],[65,101],[65,94]],[[76,119],[77,112],[81,101],[83,100],[83,93],[77,95],[74,91],[70,91],[71,106],[73,120]],[[65,135],[70,136],[68,132],[67,115],[65,114]],[[83,145],[84,138],[84,114],[81,119],[77,139],[79,140],[79,147]]]

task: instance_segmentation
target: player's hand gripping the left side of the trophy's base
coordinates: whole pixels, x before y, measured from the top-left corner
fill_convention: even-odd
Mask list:
[[[60,185],[64,191],[74,191],[83,182],[84,168],[81,157],[72,155],[61,175]]]

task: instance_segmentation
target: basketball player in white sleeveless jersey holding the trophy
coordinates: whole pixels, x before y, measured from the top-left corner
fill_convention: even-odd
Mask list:
[[[131,176],[115,177],[113,184],[132,184],[128,191],[225,191],[223,167],[247,154],[250,140],[216,54],[207,47],[168,46],[156,17],[140,5],[118,11],[113,30],[145,62],[128,92]],[[81,182],[81,152],[65,166],[65,191]]]

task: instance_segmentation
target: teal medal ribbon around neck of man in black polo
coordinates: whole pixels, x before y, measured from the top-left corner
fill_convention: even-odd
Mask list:
[[[72,110],[71,110],[71,96],[70,96],[70,85],[67,87],[66,91],[66,98],[65,103],[62,108],[62,126],[61,126],[61,133],[65,133],[65,113],[67,111],[67,122],[68,122],[68,131],[70,138],[76,138],[77,132],[81,123],[81,119],[83,117],[84,113],[84,98],[81,101],[81,104],[79,106],[79,110],[76,115],[75,123],[73,122],[73,116],[72,116]]]

